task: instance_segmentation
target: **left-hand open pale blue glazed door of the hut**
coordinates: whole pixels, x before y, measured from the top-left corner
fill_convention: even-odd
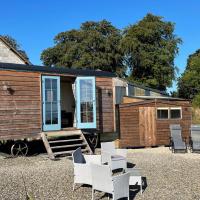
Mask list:
[[[43,130],[61,129],[60,116],[60,77],[42,77]]]

